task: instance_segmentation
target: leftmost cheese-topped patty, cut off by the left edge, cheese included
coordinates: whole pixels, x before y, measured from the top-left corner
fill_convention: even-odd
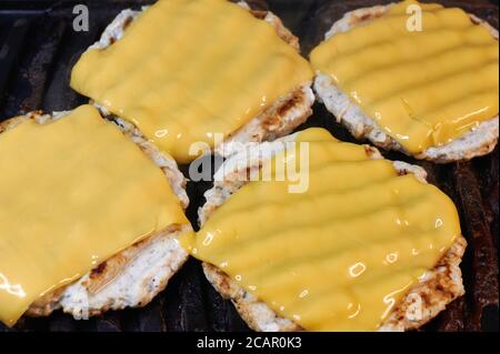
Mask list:
[[[0,124],[0,321],[143,306],[188,253],[184,178],[92,105]]]

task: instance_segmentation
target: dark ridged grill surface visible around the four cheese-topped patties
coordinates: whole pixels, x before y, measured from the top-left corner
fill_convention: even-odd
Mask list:
[[[124,8],[152,1],[2,1],[0,3],[0,118],[31,110],[69,110],[87,101],[69,89],[70,70],[81,52],[93,43]],[[249,1],[267,9],[264,0]],[[388,1],[374,0],[269,0],[276,12],[301,39],[308,53],[331,23],[346,11]],[[498,28],[498,1],[442,1],[459,6]],[[90,10],[89,32],[71,28],[74,3]],[[337,138],[353,141],[333,122],[326,109],[316,104],[303,127],[324,127]],[[411,159],[388,153],[391,159]],[[471,162],[434,165],[417,162],[429,181],[441,188],[460,211],[462,230],[469,242],[462,263],[466,296],[453,302],[427,331],[498,331],[498,148]],[[187,172],[187,166],[182,166]],[[1,175],[1,172],[0,172]],[[208,183],[189,183],[188,215],[203,203]],[[0,332],[8,331],[0,324]],[[188,261],[167,290],[144,309],[107,313],[89,321],[74,321],[60,312],[47,318],[21,318],[13,331],[248,331],[230,302],[223,301],[204,280],[199,262]]]

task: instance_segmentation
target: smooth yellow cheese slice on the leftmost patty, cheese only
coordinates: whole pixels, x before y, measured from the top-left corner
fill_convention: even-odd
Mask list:
[[[0,134],[0,320],[134,242],[187,224],[168,181],[97,110]]]

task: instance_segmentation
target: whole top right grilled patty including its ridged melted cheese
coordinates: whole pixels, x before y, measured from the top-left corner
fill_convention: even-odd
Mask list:
[[[346,13],[310,59],[319,100],[356,138],[444,163],[497,144],[498,53],[486,21],[411,0]]]

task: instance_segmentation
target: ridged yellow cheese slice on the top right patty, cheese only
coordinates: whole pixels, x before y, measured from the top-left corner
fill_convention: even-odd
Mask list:
[[[422,9],[421,31],[409,31]],[[410,27],[411,28],[411,27]],[[316,48],[313,68],[408,152],[449,143],[498,115],[498,40],[461,9],[404,1]]]

